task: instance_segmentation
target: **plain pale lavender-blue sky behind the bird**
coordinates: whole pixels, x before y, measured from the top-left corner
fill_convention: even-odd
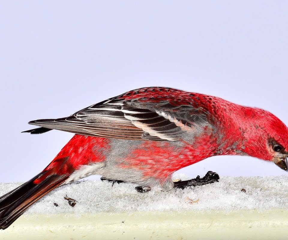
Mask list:
[[[260,107],[288,124],[287,1],[1,1],[0,182],[26,181],[73,136],[20,133],[144,86]],[[217,156],[191,177],[287,173]]]

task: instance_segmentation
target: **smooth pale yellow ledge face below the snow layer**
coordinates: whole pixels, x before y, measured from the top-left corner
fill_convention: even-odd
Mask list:
[[[288,239],[288,210],[24,215],[0,239]]]

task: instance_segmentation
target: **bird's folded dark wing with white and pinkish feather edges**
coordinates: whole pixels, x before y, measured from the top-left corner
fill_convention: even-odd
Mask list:
[[[150,94],[145,98],[120,95],[66,118],[40,119],[29,124],[97,137],[177,141],[185,132],[187,135],[187,131],[195,131],[196,125],[208,124],[208,113],[188,103],[175,102],[171,94],[160,101],[155,101]]]

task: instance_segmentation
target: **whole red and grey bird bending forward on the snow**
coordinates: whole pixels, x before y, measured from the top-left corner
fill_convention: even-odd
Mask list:
[[[94,104],[60,119],[29,122],[75,133],[38,175],[0,198],[0,229],[63,184],[91,174],[164,190],[215,182],[216,173],[173,183],[182,167],[215,155],[249,155],[287,170],[288,128],[273,114],[221,98],[148,87]]]

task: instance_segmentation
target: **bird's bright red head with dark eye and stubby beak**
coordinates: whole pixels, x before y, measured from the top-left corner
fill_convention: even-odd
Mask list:
[[[274,162],[287,171],[288,128],[272,113],[259,108],[246,108],[247,126],[243,132],[244,152]]]

